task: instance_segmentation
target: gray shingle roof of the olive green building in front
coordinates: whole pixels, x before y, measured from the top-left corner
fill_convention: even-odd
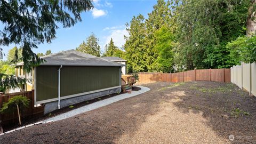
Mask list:
[[[46,62],[41,63],[42,66],[125,66],[121,63],[108,61],[93,55],[79,52],[76,50],[68,50],[59,53],[54,53],[42,57]],[[21,63],[17,63],[20,65]]]

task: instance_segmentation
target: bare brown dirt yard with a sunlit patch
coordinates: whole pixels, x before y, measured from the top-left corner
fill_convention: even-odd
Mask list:
[[[256,98],[237,86],[217,82],[145,86],[151,90],[62,121],[2,135],[0,143],[256,142]]]

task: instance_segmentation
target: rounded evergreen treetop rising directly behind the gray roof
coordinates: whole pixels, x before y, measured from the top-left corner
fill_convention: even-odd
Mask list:
[[[100,57],[99,39],[92,33],[76,50]]]

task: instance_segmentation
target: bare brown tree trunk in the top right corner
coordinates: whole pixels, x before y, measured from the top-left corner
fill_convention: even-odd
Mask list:
[[[246,23],[246,36],[251,37],[252,35],[255,35],[256,32],[256,14],[255,11],[253,11],[253,5],[256,4],[256,0],[251,1],[251,6],[249,7],[249,15],[247,18],[247,23]]]

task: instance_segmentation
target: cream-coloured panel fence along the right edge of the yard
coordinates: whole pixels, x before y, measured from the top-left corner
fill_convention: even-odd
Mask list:
[[[231,67],[231,83],[256,96],[256,62]]]

